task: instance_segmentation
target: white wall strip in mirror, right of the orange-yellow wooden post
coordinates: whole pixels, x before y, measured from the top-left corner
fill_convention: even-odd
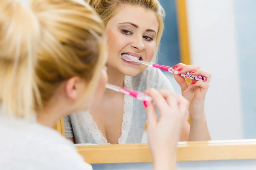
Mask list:
[[[213,140],[243,139],[233,0],[187,0],[192,64],[212,74],[206,99]]]

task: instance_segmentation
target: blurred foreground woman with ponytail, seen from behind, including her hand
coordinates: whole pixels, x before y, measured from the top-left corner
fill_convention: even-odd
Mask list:
[[[1,170],[91,170],[51,127],[102,98],[107,82],[102,20],[75,0],[34,0],[30,6],[1,0],[0,30]],[[188,102],[166,91],[146,93],[163,116],[157,120],[154,105],[145,103],[154,169],[173,169]]]

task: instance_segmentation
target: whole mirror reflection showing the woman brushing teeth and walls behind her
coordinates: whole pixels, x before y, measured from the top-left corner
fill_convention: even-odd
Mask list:
[[[93,4],[106,26],[109,84],[139,92],[174,91],[188,99],[189,119],[180,141],[255,138],[255,91],[249,77],[256,74],[256,48],[248,45],[255,44],[255,34],[248,33],[255,28],[250,26],[256,20],[250,6],[256,4],[234,2],[219,6],[186,1],[187,8],[181,8],[179,1],[162,0],[164,20],[164,12],[155,12],[158,3],[145,8],[143,3],[127,1],[119,7],[111,2],[104,9]],[[152,67],[151,62],[172,69]],[[66,138],[76,144],[147,143],[145,104],[106,89],[90,111],[64,118]],[[157,116],[161,119],[158,110]]]

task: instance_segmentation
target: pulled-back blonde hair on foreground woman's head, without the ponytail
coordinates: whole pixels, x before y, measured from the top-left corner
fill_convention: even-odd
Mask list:
[[[87,82],[85,96],[93,94],[105,63],[105,26],[99,15],[81,0],[34,0],[31,5],[41,25],[36,66],[40,100],[35,109],[46,106],[71,77]]]

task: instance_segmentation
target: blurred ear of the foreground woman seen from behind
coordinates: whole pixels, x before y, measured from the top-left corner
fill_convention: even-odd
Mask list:
[[[67,80],[64,85],[64,91],[68,98],[76,99],[78,97],[80,80],[79,77],[71,77]]]

